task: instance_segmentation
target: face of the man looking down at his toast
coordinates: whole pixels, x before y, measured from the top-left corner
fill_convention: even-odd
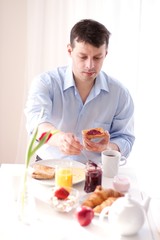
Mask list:
[[[72,58],[72,70],[75,81],[94,81],[102,68],[107,54],[106,45],[99,48],[89,43],[75,41],[74,48],[68,45],[68,52]]]

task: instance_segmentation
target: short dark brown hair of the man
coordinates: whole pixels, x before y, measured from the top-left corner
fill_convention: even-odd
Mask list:
[[[77,42],[89,43],[97,48],[106,44],[107,48],[109,37],[110,32],[103,24],[92,19],[83,19],[71,29],[70,44],[74,47],[76,40]]]

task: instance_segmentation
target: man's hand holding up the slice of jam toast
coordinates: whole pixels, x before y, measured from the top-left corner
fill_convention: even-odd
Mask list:
[[[102,152],[108,148],[110,141],[110,134],[106,131],[105,136],[99,141],[95,142],[93,140],[89,140],[86,136],[83,135],[83,146],[86,150],[92,152]]]

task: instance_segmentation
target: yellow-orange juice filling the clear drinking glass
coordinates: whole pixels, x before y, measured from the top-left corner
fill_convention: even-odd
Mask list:
[[[59,168],[56,170],[55,175],[56,186],[59,187],[72,187],[72,169]]]

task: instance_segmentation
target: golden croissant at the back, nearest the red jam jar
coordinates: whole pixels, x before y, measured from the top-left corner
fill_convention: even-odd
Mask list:
[[[82,205],[94,208],[97,205],[100,205],[109,197],[117,198],[122,196],[124,196],[124,194],[117,192],[114,189],[104,189],[102,186],[97,186],[95,191],[91,195],[89,195],[89,197],[82,203]]]

